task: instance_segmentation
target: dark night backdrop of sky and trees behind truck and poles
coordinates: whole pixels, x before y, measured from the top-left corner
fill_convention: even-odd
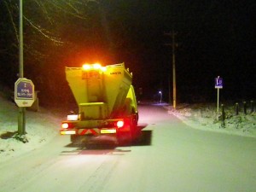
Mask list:
[[[172,28],[177,31],[178,94],[187,97],[188,88],[193,95],[208,94],[217,74],[225,77],[227,94],[236,90],[239,96],[241,87],[255,90],[253,0],[23,0],[23,8],[24,75],[40,91],[41,102],[68,101],[65,67],[96,61],[125,61],[137,88],[167,92],[172,49],[165,44],[172,39],[164,33]],[[19,0],[0,0],[0,15],[0,82],[13,89]]]

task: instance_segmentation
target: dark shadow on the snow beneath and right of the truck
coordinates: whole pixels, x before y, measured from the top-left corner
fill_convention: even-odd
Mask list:
[[[152,131],[143,130],[148,124],[139,124],[138,128],[141,130],[141,135],[136,142],[125,143],[121,145],[116,145],[113,143],[90,143],[90,144],[67,144],[67,148],[75,148],[72,151],[62,151],[63,155],[73,155],[73,154],[111,154],[111,155],[123,155],[124,153],[131,152],[131,149],[125,150],[125,147],[131,146],[150,146]],[[119,148],[122,147],[122,148]]]

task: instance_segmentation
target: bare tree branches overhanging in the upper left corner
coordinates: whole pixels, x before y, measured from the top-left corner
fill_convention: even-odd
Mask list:
[[[68,20],[86,22],[88,19],[87,10],[90,3],[96,1],[85,0],[27,0],[24,1],[24,37],[25,51],[31,55],[41,58],[44,54],[39,54],[40,50],[35,47],[37,43],[41,48],[41,43],[51,46],[61,46],[65,40],[61,38],[61,27],[68,23]],[[12,33],[15,36],[13,45],[18,49],[19,44],[19,6],[18,1],[3,0],[4,7],[8,13],[9,23],[12,26]],[[79,21],[76,21],[79,23]],[[53,44],[53,45],[52,45]]]

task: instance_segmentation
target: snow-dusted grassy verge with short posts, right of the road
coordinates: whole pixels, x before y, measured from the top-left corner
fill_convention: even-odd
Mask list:
[[[256,113],[242,112],[236,115],[234,107],[225,107],[225,119],[214,104],[180,104],[176,109],[164,106],[168,113],[172,113],[184,124],[204,131],[218,131],[243,137],[256,137]]]

